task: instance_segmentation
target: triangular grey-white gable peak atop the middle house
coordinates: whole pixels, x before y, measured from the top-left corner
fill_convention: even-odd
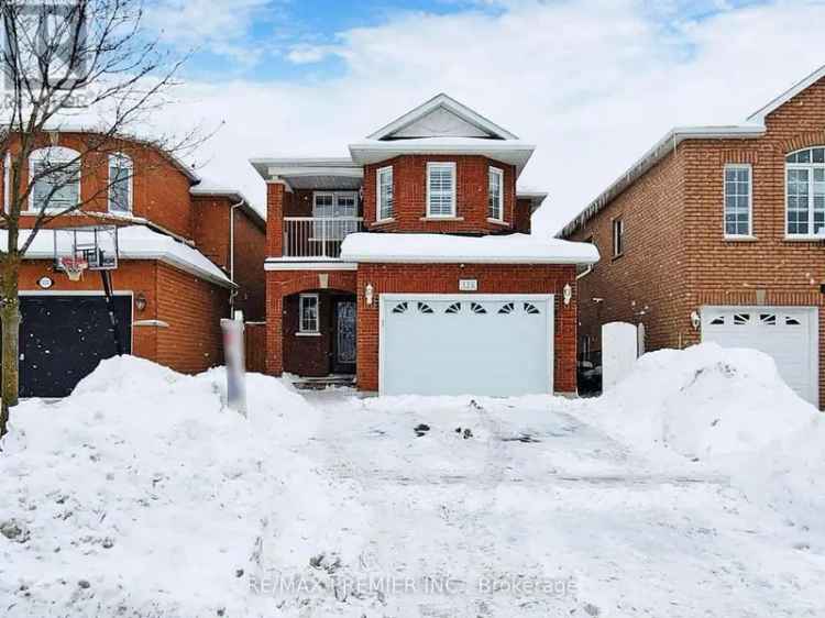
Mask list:
[[[367,140],[389,141],[410,137],[486,137],[518,140],[516,135],[479,112],[439,92],[417,108],[367,135]]]

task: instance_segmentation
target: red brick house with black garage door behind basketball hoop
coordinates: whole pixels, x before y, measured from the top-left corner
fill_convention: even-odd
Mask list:
[[[89,139],[99,137],[82,131],[44,135],[21,185],[43,162],[76,159],[88,151],[82,142]],[[80,157],[73,174],[78,181],[53,197],[59,203],[77,203],[78,196],[91,201],[82,212],[62,216],[42,230],[21,268],[23,396],[65,395],[100,358],[116,353],[101,279],[87,272],[70,282],[59,272],[55,229],[118,227],[120,264],[111,279],[128,353],[180,372],[200,372],[222,362],[221,318],[232,309],[250,320],[265,316],[266,223],[248,200],[202,181],[150,144],[118,140],[105,147],[106,154]],[[3,208],[9,203],[9,161],[0,174]],[[22,228],[33,225],[38,196],[47,192],[41,188],[47,189],[50,179],[46,175],[37,183],[29,213],[21,216]],[[6,243],[1,225],[0,234]]]

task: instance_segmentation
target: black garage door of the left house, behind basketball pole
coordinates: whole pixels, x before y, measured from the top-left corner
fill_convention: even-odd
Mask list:
[[[103,358],[117,354],[103,296],[20,299],[20,396],[65,397]],[[132,350],[130,296],[114,297],[123,351]]]

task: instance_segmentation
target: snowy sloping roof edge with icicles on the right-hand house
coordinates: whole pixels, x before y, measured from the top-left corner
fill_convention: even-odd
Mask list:
[[[641,177],[685,140],[752,140],[761,137],[767,131],[765,120],[771,112],[824,77],[825,65],[749,115],[743,124],[725,126],[676,126],[671,129],[652,148],[636,161],[627,172],[619,176],[596,199],[590,202],[582,212],[576,214],[570,223],[562,228],[558,235],[564,238],[574,233],[600,210],[613,201],[616,196],[632,185],[637,178]]]

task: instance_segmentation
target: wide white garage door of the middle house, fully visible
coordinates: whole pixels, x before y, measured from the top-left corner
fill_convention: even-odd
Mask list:
[[[553,297],[382,295],[381,393],[552,393]]]

